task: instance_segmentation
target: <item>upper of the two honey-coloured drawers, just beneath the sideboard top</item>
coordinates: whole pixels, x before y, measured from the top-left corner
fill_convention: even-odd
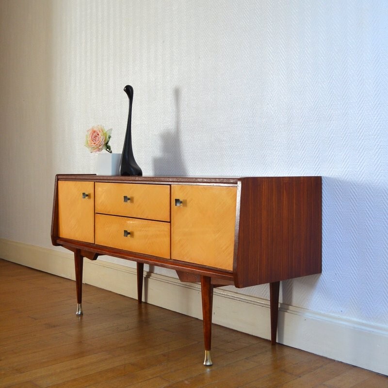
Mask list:
[[[95,208],[96,213],[170,221],[170,186],[96,182]]]

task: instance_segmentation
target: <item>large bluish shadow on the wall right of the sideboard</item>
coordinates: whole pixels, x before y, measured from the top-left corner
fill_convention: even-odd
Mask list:
[[[323,177],[322,275],[282,282],[281,303],[386,326],[388,319],[388,187]],[[284,322],[279,316],[279,339]]]

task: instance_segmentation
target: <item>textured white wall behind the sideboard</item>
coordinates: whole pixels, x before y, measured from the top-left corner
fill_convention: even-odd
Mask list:
[[[388,326],[388,2],[0,2],[0,238],[50,247],[94,124],[145,175],[322,175],[323,274],[282,301]],[[268,297],[267,286],[242,290]]]

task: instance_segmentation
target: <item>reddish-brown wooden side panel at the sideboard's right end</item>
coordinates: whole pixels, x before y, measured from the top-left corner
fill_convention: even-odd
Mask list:
[[[321,273],[321,177],[243,178],[237,251],[237,287]]]

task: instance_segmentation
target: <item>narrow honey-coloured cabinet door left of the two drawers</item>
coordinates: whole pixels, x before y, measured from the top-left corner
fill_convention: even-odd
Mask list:
[[[58,182],[58,234],[94,242],[94,182]]]

